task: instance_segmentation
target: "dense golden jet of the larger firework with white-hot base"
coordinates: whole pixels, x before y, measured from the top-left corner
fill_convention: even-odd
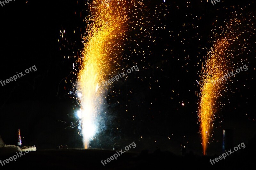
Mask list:
[[[104,88],[102,82],[111,72],[113,63],[119,63],[121,42],[127,30],[128,4],[124,0],[89,4],[90,15],[86,18],[87,29],[84,36],[84,49],[78,60],[77,92],[81,107],[81,122],[84,148],[97,131]]]

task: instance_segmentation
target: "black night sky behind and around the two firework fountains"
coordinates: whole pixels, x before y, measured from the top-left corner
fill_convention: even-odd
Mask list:
[[[213,45],[212,30],[220,33],[218,28],[224,27],[235,11],[255,23],[250,15],[255,12],[255,2],[143,2],[148,9],[145,20],[150,21],[143,29],[149,34],[137,36],[139,30],[128,33],[143,42],[140,47],[126,43],[127,57],[121,69],[136,63],[139,71],[109,86],[102,107],[105,123],[91,147],[112,149],[115,143],[126,146],[134,141],[136,152],[161,149],[181,154],[185,146],[187,152],[202,155],[196,80],[200,81],[202,64]],[[37,69],[16,82],[0,84],[0,136],[5,144],[17,144],[20,129],[24,145],[83,148],[77,127],[70,128],[78,120],[76,99],[70,92],[77,78],[73,63],[83,48],[86,8],[81,0],[17,0],[0,6],[0,80],[34,65]],[[223,107],[216,113],[209,155],[221,153],[223,129],[234,130],[234,145],[255,137],[255,27],[246,24],[252,29],[251,38],[244,37],[248,51],[232,62],[242,61],[248,70],[232,77],[227,92],[219,98]],[[63,38],[60,30],[65,30]],[[132,53],[133,48],[144,50],[145,55]]]

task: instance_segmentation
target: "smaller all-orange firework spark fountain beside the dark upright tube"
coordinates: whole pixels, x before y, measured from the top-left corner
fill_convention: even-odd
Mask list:
[[[243,26],[246,18],[237,19],[237,14],[226,23],[226,27],[214,42],[213,47],[207,54],[206,61],[203,65],[200,81],[200,100],[198,117],[200,122],[200,133],[202,138],[203,153],[206,154],[209,138],[213,135],[212,129],[218,110],[220,110],[220,101],[218,99],[225,95],[227,90],[227,81],[212,83],[213,81],[226,75],[230,70],[239,68],[241,62],[233,63],[246,50],[248,45],[248,36],[250,33],[247,26]],[[253,23],[252,23],[253,26]],[[251,35],[249,35],[250,38]],[[246,37],[246,39],[245,39]],[[232,78],[229,78],[232,81]]]

